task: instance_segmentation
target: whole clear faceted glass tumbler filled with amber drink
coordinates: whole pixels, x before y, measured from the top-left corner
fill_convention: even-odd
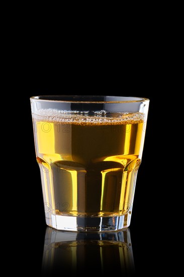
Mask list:
[[[115,231],[130,225],[148,106],[138,97],[31,98],[48,226]]]

